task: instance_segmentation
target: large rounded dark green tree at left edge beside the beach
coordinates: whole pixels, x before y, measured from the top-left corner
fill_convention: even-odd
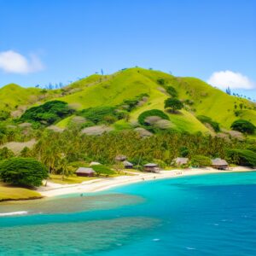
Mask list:
[[[48,172],[43,164],[32,158],[11,158],[0,163],[0,178],[5,183],[40,186]]]

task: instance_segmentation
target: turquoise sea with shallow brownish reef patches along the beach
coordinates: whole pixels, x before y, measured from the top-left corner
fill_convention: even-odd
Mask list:
[[[0,212],[0,255],[256,255],[256,172],[4,203]]]

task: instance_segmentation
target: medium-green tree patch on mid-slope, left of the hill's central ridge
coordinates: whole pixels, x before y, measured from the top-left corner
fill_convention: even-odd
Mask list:
[[[79,115],[93,122],[95,125],[113,124],[118,119],[123,119],[125,112],[119,111],[114,107],[96,107],[83,109],[79,112]]]

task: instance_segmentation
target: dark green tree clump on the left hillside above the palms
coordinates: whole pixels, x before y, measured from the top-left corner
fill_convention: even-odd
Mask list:
[[[73,113],[67,102],[46,102],[38,107],[29,108],[20,117],[22,122],[36,122],[43,125],[52,125],[56,121]]]

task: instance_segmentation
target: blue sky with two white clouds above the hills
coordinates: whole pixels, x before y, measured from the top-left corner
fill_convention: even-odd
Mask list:
[[[0,87],[145,67],[256,99],[255,0],[0,0]]]

